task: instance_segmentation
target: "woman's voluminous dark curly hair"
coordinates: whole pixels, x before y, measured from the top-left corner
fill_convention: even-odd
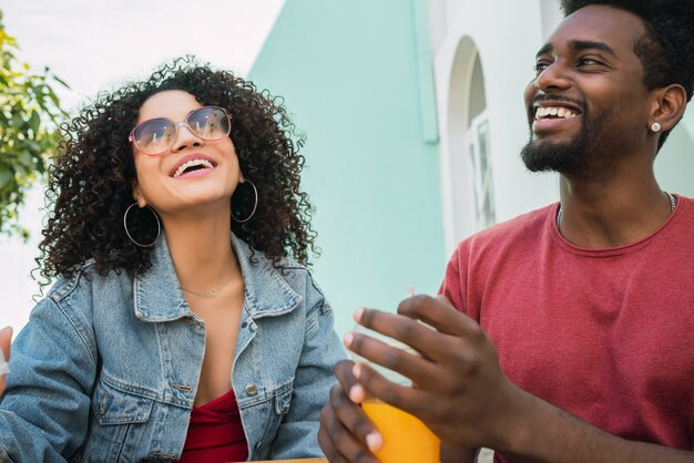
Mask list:
[[[164,90],[186,91],[202,105],[222,106],[233,116],[231,137],[241,169],[258,192],[252,219],[232,220],[233,233],[275,267],[283,257],[308,265],[309,250],[317,255],[318,249],[310,227],[313,207],[299,185],[305,160],[298,150],[305,137],[297,134],[284,101],[231,72],[185,56],[160,66],[144,81],[98,94],[62,125],[64,141],[45,191],[51,207],[37,259],[41,275],[70,277],[88,259],[94,259],[100,275],[151,267],[151,248],[136,246],[123,227],[135,178],[129,134],[145,100]],[[252,188],[237,188],[233,197],[234,215],[248,215],[249,210],[238,209],[254,202]],[[143,216],[133,223],[129,219],[133,235],[156,234],[151,214],[149,220]]]

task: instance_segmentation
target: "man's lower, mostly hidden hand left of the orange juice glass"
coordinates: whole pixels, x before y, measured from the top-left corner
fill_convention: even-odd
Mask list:
[[[320,412],[318,443],[333,463],[378,463],[371,451],[382,446],[382,438],[358,405],[365,392],[351,369],[349,360],[335,366],[338,383],[330,390],[330,400]]]

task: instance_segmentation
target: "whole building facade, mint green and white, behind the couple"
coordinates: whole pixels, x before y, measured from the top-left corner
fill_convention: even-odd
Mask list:
[[[523,90],[557,0],[288,0],[252,72],[307,134],[306,186],[337,329],[361,305],[435,292],[456,244],[559,197],[525,171]],[[694,114],[656,160],[694,196]]]

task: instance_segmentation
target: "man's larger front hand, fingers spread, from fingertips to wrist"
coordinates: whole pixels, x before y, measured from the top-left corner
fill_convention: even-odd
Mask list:
[[[367,393],[418,416],[447,444],[503,447],[501,440],[512,433],[513,418],[522,413],[519,405],[528,394],[503,374],[497,350],[480,326],[443,297],[406,299],[398,313],[359,309],[355,317],[421,357],[359,333],[348,333],[346,343],[355,353],[410,378],[415,387],[394,384],[361,363],[353,367],[358,382]]]

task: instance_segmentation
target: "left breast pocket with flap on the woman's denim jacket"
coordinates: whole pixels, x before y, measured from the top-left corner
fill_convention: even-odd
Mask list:
[[[83,453],[88,462],[130,462],[147,447],[147,421],[154,400],[123,390],[102,373],[92,395],[90,435]]]

